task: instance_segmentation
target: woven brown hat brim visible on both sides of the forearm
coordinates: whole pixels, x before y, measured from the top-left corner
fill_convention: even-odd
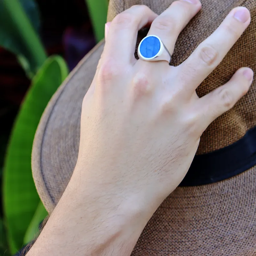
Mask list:
[[[104,41],[85,56],[61,85],[36,132],[32,172],[49,213],[76,165],[82,100],[103,47]],[[132,255],[256,255],[255,184],[253,167],[214,184],[178,187],[150,219]]]

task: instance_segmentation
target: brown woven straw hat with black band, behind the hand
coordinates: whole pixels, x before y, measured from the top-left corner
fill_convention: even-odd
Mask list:
[[[160,14],[172,2],[110,0],[108,21],[133,4],[148,5]],[[201,2],[202,10],[175,45],[174,66],[210,36],[232,8],[247,7],[252,21],[221,64],[198,87],[199,97],[226,83],[240,67],[256,71],[256,1]],[[139,33],[138,42],[146,33]],[[33,177],[49,213],[76,165],[82,100],[103,47],[104,41],[71,72],[49,102],[36,132]],[[235,107],[204,132],[187,176],[152,216],[132,255],[256,255],[256,79]]]

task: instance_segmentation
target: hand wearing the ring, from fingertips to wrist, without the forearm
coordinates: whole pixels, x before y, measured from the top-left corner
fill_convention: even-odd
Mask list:
[[[176,1],[158,17],[146,6],[133,6],[110,25],[84,97],[74,175],[100,187],[100,196],[113,198],[116,206],[130,200],[147,210],[150,205],[152,214],[184,178],[202,132],[252,82],[252,70],[241,68],[201,99],[195,92],[249,25],[244,7],[232,10],[178,67],[135,60],[137,31],[152,21],[148,34],[159,36],[172,53],[180,31],[201,8],[196,2]]]

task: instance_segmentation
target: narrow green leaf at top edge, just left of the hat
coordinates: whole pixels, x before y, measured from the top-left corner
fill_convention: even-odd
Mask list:
[[[97,42],[100,42],[100,40],[104,38],[105,34],[105,23],[107,22],[108,13],[108,0],[85,0],[85,2],[89,9],[94,35]]]

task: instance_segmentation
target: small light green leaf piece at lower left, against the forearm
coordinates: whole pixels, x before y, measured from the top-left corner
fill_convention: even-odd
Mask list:
[[[31,220],[28,226],[28,229],[26,231],[26,234],[24,236],[24,244],[30,243],[32,240],[34,240],[37,237],[39,232],[39,225],[47,215],[48,215],[48,212],[45,210],[44,205],[40,201],[37,206],[34,217]]]

